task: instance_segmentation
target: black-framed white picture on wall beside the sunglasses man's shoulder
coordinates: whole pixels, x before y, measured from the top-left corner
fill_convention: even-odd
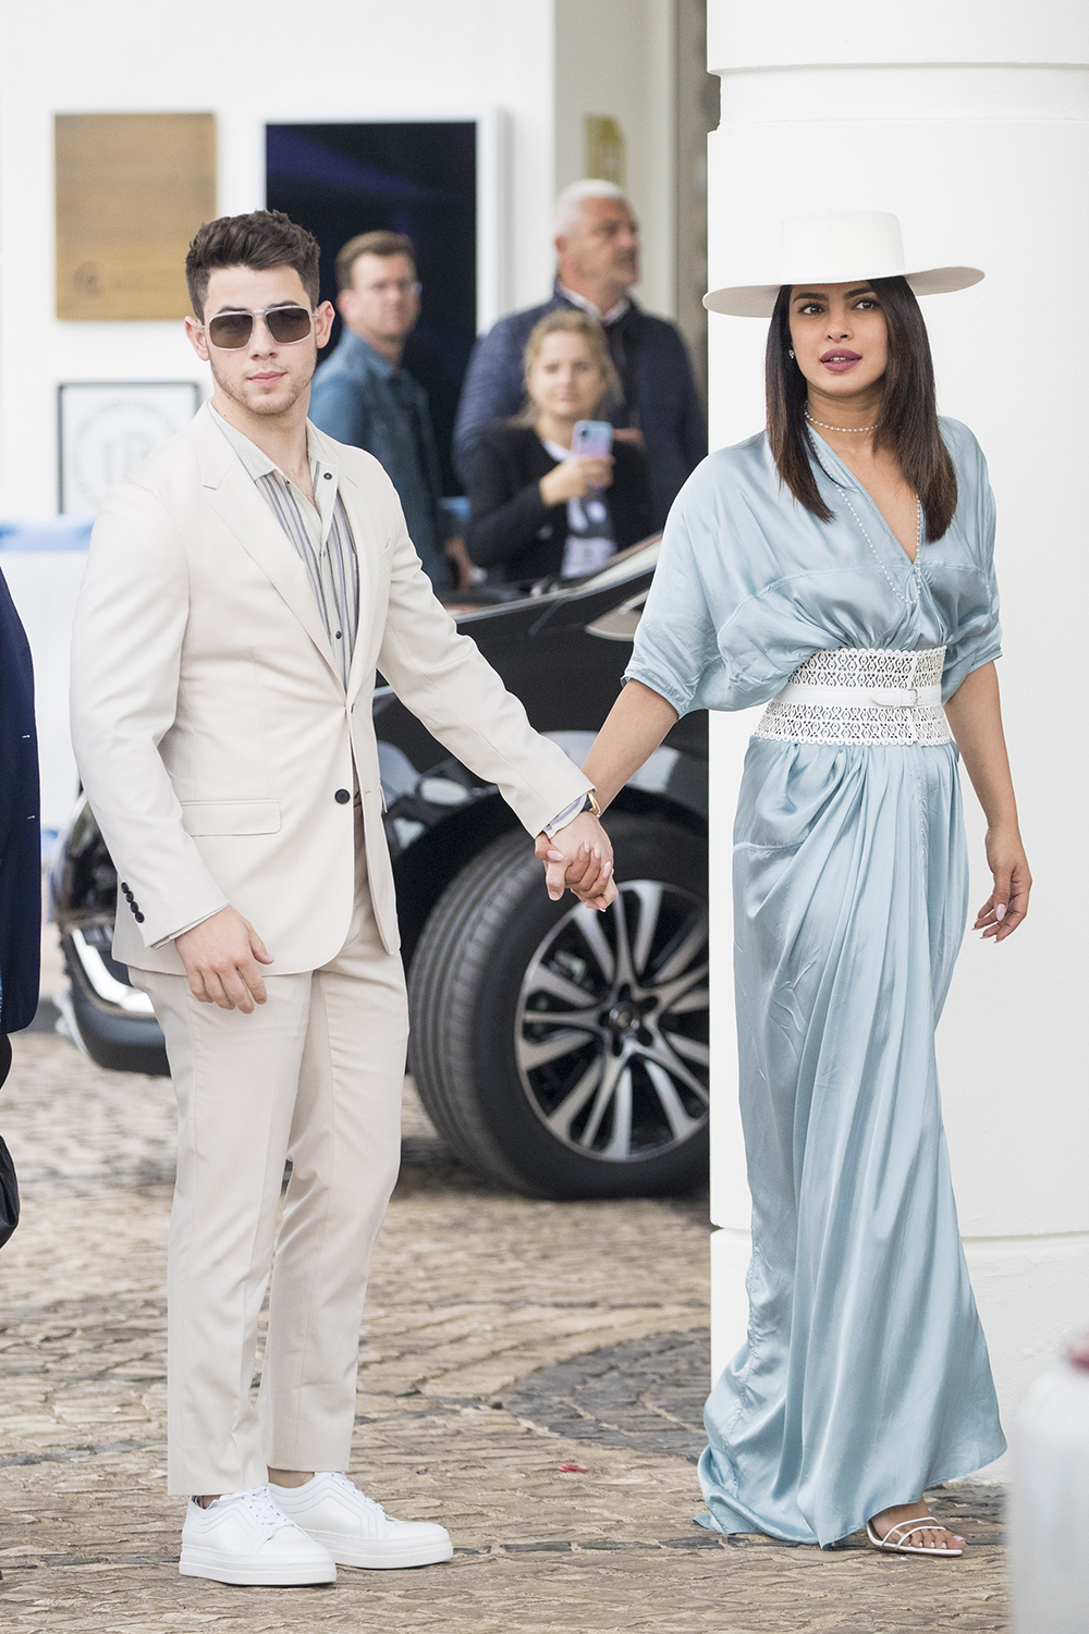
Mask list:
[[[74,381],[57,387],[59,510],[93,516],[111,482],[183,431],[196,381]]]

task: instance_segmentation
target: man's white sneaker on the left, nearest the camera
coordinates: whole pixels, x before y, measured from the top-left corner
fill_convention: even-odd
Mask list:
[[[203,1508],[190,1498],[182,1528],[183,1577],[214,1583],[335,1583],[329,1549],[276,1508],[268,1487],[229,1492]]]

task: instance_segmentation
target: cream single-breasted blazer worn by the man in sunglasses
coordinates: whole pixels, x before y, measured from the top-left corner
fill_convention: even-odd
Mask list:
[[[332,959],[352,917],[356,778],[374,917],[397,948],[376,668],[531,835],[590,786],[435,600],[378,461],[311,435],[360,559],[347,696],[306,569],[208,408],[110,489],[95,523],[72,742],[124,887],[123,964],[182,972],[173,938],[227,902],[273,954],[270,974]]]

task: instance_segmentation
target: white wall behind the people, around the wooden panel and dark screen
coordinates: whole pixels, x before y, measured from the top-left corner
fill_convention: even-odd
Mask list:
[[[491,322],[546,297],[558,168],[580,175],[584,111],[616,111],[646,224],[641,292],[672,310],[672,0],[325,0],[314,13],[54,0],[47,31],[43,15],[2,10],[0,516],[56,510],[59,381],[201,379],[180,324],[54,317],[54,113],[214,113],[224,214],[265,203],[267,123],[497,114],[505,175],[482,201],[504,252]]]

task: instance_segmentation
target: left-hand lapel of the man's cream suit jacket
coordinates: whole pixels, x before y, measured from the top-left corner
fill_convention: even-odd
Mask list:
[[[204,498],[283,596],[340,681],[340,670],[334,660],[306,565],[270,511],[265,497],[258,493],[257,484],[242,461],[213,422],[208,405],[193,420],[190,436],[198,451]],[[360,574],[360,580],[361,577]]]

